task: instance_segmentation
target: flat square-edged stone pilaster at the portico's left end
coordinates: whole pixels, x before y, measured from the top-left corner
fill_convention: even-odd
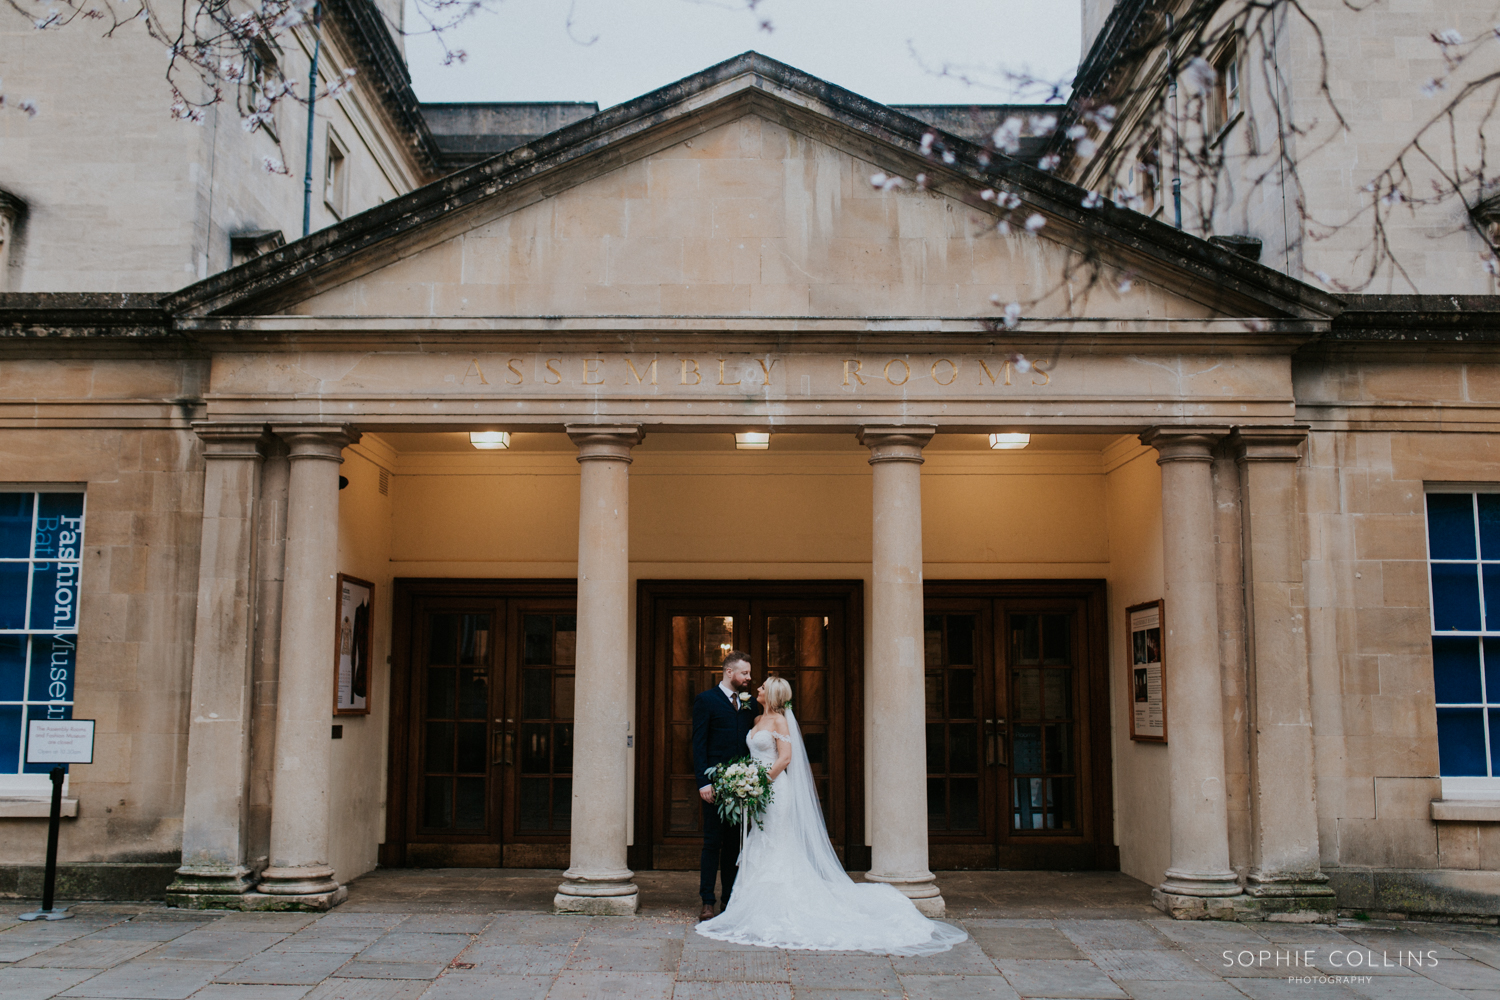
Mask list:
[[[236,906],[255,885],[246,865],[250,658],[255,625],[255,516],[261,424],[200,421],[202,543],[188,717],[183,864],[174,906]]]

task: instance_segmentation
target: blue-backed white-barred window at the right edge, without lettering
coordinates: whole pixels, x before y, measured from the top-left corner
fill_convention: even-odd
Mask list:
[[[1500,493],[1428,493],[1426,550],[1438,769],[1500,778]]]

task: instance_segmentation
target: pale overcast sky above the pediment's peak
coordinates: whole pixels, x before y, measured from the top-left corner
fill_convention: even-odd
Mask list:
[[[882,103],[999,103],[998,70],[1068,78],[1077,0],[489,0],[447,36],[406,40],[422,100],[630,100],[756,49]],[[572,27],[568,10],[572,7]],[[768,19],[770,33],[758,22]],[[408,13],[406,27],[418,19]],[[915,54],[914,54],[915,52]],[[942,76],[948,64],[982,84]]]

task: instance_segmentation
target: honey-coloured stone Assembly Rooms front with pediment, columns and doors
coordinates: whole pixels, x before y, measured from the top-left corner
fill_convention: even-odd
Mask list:
[[[1184,918],[1500,915],[1490,300],[1332,295],[932,129],[747,54],[202,280],[4,295],[9,888],[22,721],[70,715],[81,891],[550,867],[634,912],[747,648],[928,912],[1118,867]]]

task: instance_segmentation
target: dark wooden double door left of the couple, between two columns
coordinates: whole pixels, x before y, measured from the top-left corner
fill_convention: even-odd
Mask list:
[[[396,580],[381,864],[566,868],[572,580]]]

